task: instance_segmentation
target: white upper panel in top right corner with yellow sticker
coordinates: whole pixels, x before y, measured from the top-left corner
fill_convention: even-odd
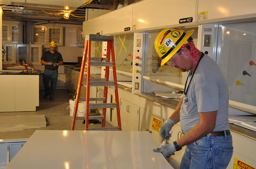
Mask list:
[[[199,24],[256,17],[255,0],[198,0]]]

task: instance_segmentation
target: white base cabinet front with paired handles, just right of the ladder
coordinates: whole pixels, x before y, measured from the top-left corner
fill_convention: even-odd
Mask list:
[[[120,115],[123,131],[139,131],[139,106],[121,99]]]

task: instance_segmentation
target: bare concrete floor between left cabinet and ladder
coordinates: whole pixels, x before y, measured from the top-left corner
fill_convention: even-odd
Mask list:
[[[6,115],[45,115],[47,118],[47,127],[26,129],[22,131],[0,132],[0,139],[19,139],[29,138],[35,130],[70,130],[72,123],[72,116],[70,110],[66,108],[69,106],[69,99],[72,95],[67,90],[55,90],[55,100],[43,99],[44,90],[39,91],[39,107],[36,107],[34,112],[0,112],[1,116]],[[90,115],[96,115],[91,112]],[[91,127],[101,127],[101,124],[93,124]],[[111,125],[106,122],[106,127]],[[82,121],[76,121],[75,130],[84,130],[85,124]]]

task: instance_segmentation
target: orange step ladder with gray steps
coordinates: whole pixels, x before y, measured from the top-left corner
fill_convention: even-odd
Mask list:
[[[81,70],[79,76],[79,82],[76,90],[76,101],[73,113],[73,120],[71,125],[71,130],[74,130],[76,120],[85,120],[85,130],[122,130],[121,118],[120,118],[120,108],[119,108],[119,97],[117,90],[117,79],[116,79],[116,63],[113,45],[113,36],[101,36],[95,34],[87,34],[84,42],[84,53],[81,63]],[[107,56],[106,58],[96,58],[91,57],[91,41],[102,41],[107,43]],[[110,54],[112,62],[110,62]],[[87,63],[87,78],[84,79],[84,68]],[[97,79],[90,77],[90,67],[91,66],[105,66],[105,78]],[[109,67],[113,67],[113,81],[109,81]],[[86,85],[82,82],[86,81]],[[103,98],[90,98],[90,86],[104,86],[104,96]],[[114,86],[115,91],[115,103],[107,103],[108,87]],[[86,98],[80,99],[81,87],[86,87]],[[76,117],[79,99],[86,101],[85,117]],[[89,101],[103,101],[103,103],[89,103]],[[102,115],[89,116],[89,109],[102,108]],[[117,113],[117,127],[105,127],[106,123],[106,108],[116,108]],[[89,128],[89,120],[102,119],[102,127]]]

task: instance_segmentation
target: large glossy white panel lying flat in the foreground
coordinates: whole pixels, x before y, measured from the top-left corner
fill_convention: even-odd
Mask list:
[[[144,131],[36,130],[5,169],[173,169]]]

